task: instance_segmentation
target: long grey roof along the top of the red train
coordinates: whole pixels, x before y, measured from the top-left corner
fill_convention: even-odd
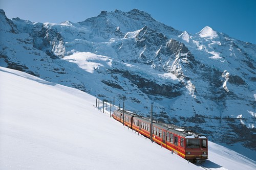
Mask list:
[[[117,110],[117,111],[122,112],[122,110]],[[148,123],[148,124],[151,123],[150,118],[139,116],[137,114],[134,114],[133,112],[124,111],[124,114],[134,116],[136,119],[141,120],[145,123]],[[156,122],[155,120],[153,120],[153,126],[157,126],[161,129],[164,129],[168,132],[175,133],[175,134],[177,134],[179,136],[182,136],[184,138],[206,138],[205,135],[195,133],[195,132],[189,132],[189,131],[185,130],[183,127],[179,127],[179,126],[176,126],[176,125],[173,125],[173,124],[165,124],[165,123]]]

